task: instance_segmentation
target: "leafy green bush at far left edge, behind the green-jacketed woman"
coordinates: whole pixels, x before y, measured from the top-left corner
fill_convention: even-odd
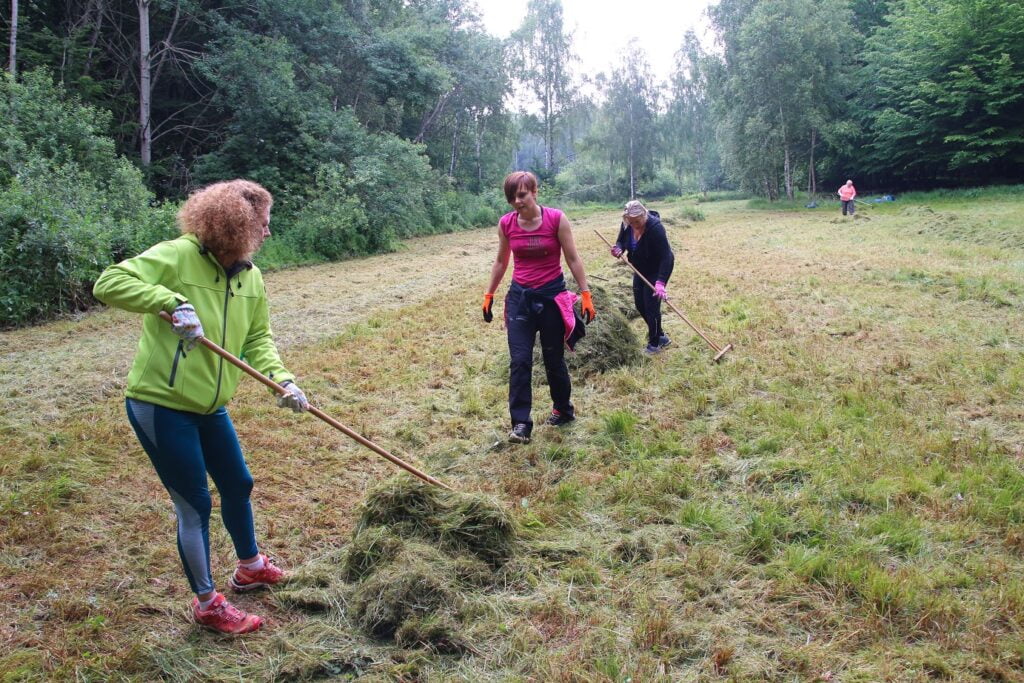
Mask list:
[[[139,171],[101,134],[103,112],[45,71],[0,81],[0,327],[79,310],[111,262],[174,233]]]

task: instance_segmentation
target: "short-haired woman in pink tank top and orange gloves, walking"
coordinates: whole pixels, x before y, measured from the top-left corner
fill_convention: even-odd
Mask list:
[[[584,335],[573,303],[577,295],[565,289],[561,258],[580,284],[583,316],[587,323],[597,314],[587,286],[587,273],[577,253],[572,228],[561,211],[537,203],[537,176],[525,171],[505,178],[505,199],[512,206],[498,226],[498,257],[490,267],[490,283],[483,295],[483,319],[494,315],[495,290],[505,276],[512,257],[512,285],[505,297],[505,327],[509,342],[509,440],[528,443],[534,431],[534,343],[541,333],[544,369],[551,390],[551,415],[546,424],[561,426],[575,419],[569,400],[572,391],[565,367],[565,346],[570,349]]]

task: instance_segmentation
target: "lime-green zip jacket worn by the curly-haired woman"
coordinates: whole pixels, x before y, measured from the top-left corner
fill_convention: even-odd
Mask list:
[[[207,339],[275,382],[295,379],[273,344],[259,268],[249,264],[228,278],[193,234],[112,265],[92,292],[111,306],[147,313],[128,374],[129,398],[210,414],[234,395],[242,371],[201,346],[186,353],[170,324],[160,318],[160,311],[170,313],[184,301],[195,306]]]

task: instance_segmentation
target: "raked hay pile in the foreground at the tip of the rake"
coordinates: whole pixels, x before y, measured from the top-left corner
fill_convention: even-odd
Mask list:
[[[278,597],[402,646],[458,652],[462,614],[503,581],[515,550],[515,523],[495,502],[401,476],[369,494],[345,551],[297,572]]]

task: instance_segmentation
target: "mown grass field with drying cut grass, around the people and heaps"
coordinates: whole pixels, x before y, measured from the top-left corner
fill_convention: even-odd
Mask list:
[[[1024,680],[1020,194],[847,219],[654,208],[670,295],[735,350],[712,365],[668,313],[669,351],[574,377],[580,419],[525,446],[504,442],[503,331],[478,319],[493,229],[267,278],[314,403],[516,520],[450,650],[370,637],[333,575],[324,603],[241,598],[264,632],[199,631],[173,508],[124,417],[137,321],[0,334],[0,679]],[[575,221],[597,284],[628,280],[593,233],[616,224]],[[330,574],[392,468],[253,382],[230,409],[265,548]]]

